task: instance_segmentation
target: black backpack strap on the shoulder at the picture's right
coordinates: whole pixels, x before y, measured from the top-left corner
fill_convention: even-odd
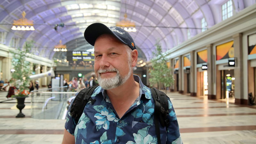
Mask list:
[[[169,113],[168,98],[164,92],[159,91],[156,88],[150,89],[155,102],[154,123],[156,128],[156,138],[157,143],[161,144],[159,122],[162,126],[165,127],[168,127],[169,125],[169,119],[167,119],[167,114]]]

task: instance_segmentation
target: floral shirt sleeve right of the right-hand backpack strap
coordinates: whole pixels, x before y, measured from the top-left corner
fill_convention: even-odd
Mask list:
[[[182,140],[180,137],[180,128],[177,121],[177,117],[172,106],[171,100],[168,99],[169,105],[169,115],[167,118],[169,119],[169,126],[167,128],[167,143],[172,144],[182,144]]]

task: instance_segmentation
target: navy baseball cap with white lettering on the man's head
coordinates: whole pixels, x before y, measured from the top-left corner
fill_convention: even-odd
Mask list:
[[[132,50],[136,49],[132,36],[130,36],[127,31],[116,26],[108,28],[102,23],[93,23],[89,25],[84,31],[84,38],[89,44],[94,46],[96,39],[102,34],[111,34],[122,43],[128,45]]]

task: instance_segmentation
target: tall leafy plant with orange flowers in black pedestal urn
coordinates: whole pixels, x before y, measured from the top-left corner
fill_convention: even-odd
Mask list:
[[[21,110],[25,107],[24,101],[25,98],[28,97],[29,94],[29,84],[32,71],[30,68],[30,62],[26,61],[25,58],[28,57],[31,47],[33,46],[33,42],[26,42],[23,49],[17,49],[11,51],[13,54],[12,57],[12,66],[14,68],[14,72],[12,72],[12,80],[11,83],[15,87],[13,98],[17,99],[17,108],[20,110],[20,113],[16,117],[24,117],[25,115],[21,112]]]

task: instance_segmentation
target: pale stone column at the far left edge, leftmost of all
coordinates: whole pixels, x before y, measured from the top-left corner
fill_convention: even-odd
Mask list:
[[[3,61],[2,61],[3,80],[7,79],[8,81],[10,81],[10,79],[12,78],[11,68],[12,68],[11,58],[8,58],[8,57],[3,58]]]

